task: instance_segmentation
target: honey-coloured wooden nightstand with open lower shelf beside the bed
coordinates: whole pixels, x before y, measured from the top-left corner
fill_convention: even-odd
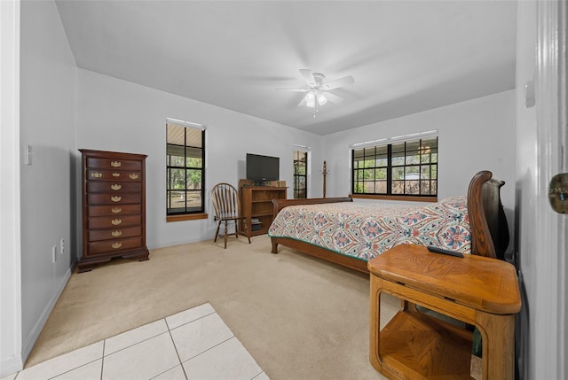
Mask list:
[[[477,327],[484,380],[514,378],[515,314],[521,309],[517,272],[505,261],[464,256],[402,244],[369,260],[369,359],[384,376],[472,378],[472,332],[422,313],[415,304]],[[380,330],[383,292],[406,306]]]

